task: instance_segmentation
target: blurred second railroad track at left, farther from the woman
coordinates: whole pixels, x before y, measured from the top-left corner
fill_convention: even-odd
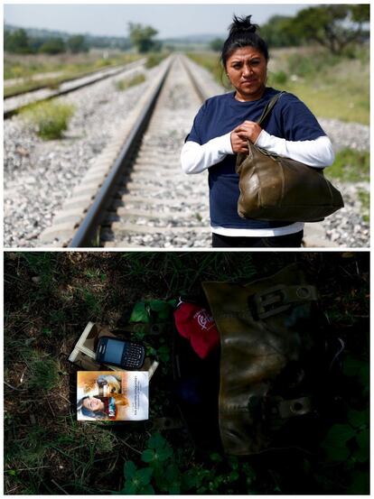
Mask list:
[[[45,100],[50,100],[54,97],[60,97],[70,92],[74,92],[79,88],[88,87],[93,85],[102,79],[111,78],[117,76],[120,73],[125,73],[126,76],[130,76],[131,73],[143,69],[145,65],[145,59],[135,60],[129,64],[122,65],[115,68],[100,69],[94,73],[89,73],[86,76],[67,79],[59,85],[59,88],[38,88],[28,92],[19,92],[12,97],[6,97],[4,99],[4,119],[8,119],[27,106],[36,104]]]

